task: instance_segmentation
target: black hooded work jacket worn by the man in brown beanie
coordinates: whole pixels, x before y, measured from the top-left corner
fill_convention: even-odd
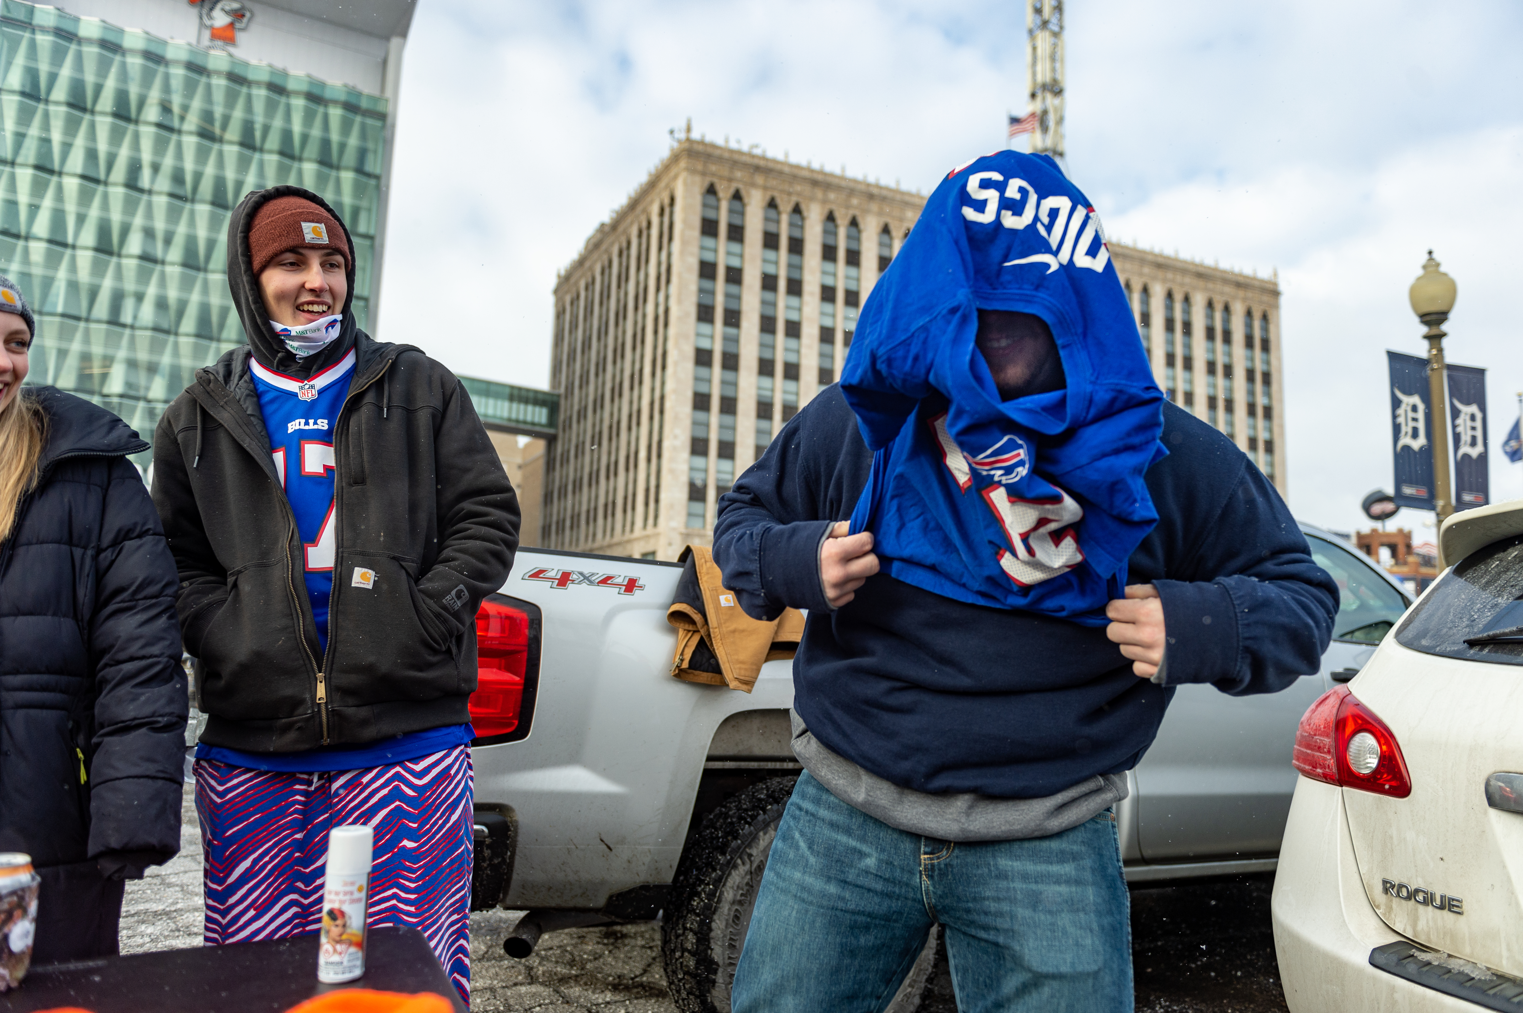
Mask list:
[[[300,187],[244,198],[227,277],[250,344],[198,370],[154,433],[154,502],[180,567],[186,649],[201,662],[201,741],[262,753],[469,721],[475,610],[512,569],[519,520],[460,380],[413,345],[356,329],[352,263],[340,336],[302,362],[286,351],[248,254],[254,211],[285,195],[343,225]],[[349,348],[355,373],[332,430],[337,555],[323,654],[248,357],[305,377]],[[375,573],[370,587],[355,584],[356,569]]]

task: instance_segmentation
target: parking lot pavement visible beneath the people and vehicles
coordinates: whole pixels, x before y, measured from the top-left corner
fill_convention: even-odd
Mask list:
[[[1132,957],[1139,1013],[1285,1010],[1269,925],[1269,878],[1138,890]],[[661,970],[661,926],[646,922],[551,932],[528,960],[503,952],[521,913],[471,916],[472,1010],[478,1013],[675,1013]],[[128,884],[122,951],[201,943],[201,841],[186,791],[180,855]],[[955,1013],[944,957],[924,1013]]]

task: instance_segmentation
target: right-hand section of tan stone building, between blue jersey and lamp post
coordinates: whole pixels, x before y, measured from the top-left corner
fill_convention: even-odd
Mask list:
[[[1110,256],[1164,394],[1232,437],[1285,496],[1278,281],[1115,242]]]

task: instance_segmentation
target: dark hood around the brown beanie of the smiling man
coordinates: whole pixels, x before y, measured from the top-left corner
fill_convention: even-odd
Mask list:
[[[248,336],[248,345],[253,348],[254,359],[260,365],[276,373],[305,379],[334,365],[355,345],[355,332],[359,329],[352,312],[355,303],[355,257],[344,257],[344,277],[349,281],[349,292],[344,295],[344,307],[341,310],[344,319],[338,329],[338,338],[321,351],[305,359],[297,359],[276,335],[274,327],[270,325],[270,310],[259,294],[259,278],[254,275],[253,257],[248,252],[248,230],[253,225],[254,213],[267,202],[282,196],[305,198],[332,214],[338,227],[344,230],[349,249],[355,251],[356,256],[358,251],[355,237],[350,234],[344,219],[327,201],[311,190],[292,186],[254,190],[233,208],[233,218],[227,224],[227,287],[233,294],[233,306],[238,307],[238,318],[244,322],[244,335]]]

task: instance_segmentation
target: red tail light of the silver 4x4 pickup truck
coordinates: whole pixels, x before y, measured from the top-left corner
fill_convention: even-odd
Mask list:
[[[490,595],[477,611],[477,689],[471,694],[477,744],[528,733],[539,675],[539,616],[528,608],[527,602]]]

